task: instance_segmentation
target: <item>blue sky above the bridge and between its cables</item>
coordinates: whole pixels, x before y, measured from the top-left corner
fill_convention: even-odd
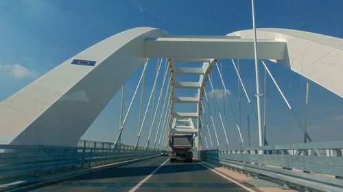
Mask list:
[[[257,27],[288,28],[343,38],[343,2],[337,1],[256,1]],[[156,27],[173,35],[225,35],[252,28],[250,1],[18,1],[0,0],[0,100],[5,100],[45,72],[58,66],[88,46],[133,27]],[[252,61],[241,62],[241,73],[250,98],[254,98],[255,74]],[[226,65],[225,65],[226,64]],[[237,79],[230,61],[223,61],[224,77],[237,106]],[[154,65],[152,65],[154,66]],[[276,81],[303,120],[305,79],[294,76],[274,64],[268,64]],[[150,74],[154,68],[149,68]],[[281,71],[281,72],[279,72]],[[140,71],[128,81],[126,107],[137,85]],[[291,79],[287,80],[289,77]],[[262,79],[261,79],[262,80]],[[147,79],[153,81],[153,79]],[[217,74],[216,88],[222,89]],[[161,85],[159,85],[161,87]],[[270,143],[300,142],[303,133],[294,115],[287,110],[281,96],[268,81],[268,115]],[[149,89],[149,87],[148,87]],[[145,94],[147,95],[147,94]],[[119,125],[120,93],[116,94],[99,118],[84,135],[84,139],[113,141]],[[222,102],[222,101],[220,101]],[[226,102],[227,104],[227,102]],[[138,104],[135,104],[137,108]],[[242,98],[242,106],[248,106]],[[254,102],[255,107],[255,102]],[[138,109],[138,108],[137,108]],[[256,109],[256,107],[255,107]],[[311,87],[309,133],[314,141],[341,140],[343,135],[343,101],[318,85]],[[224,110],[224,109],[222,109]],[[229,108],[226,108],[228,111]],[[124,142],[132,143],[137,130],[137,110],[124,132]],[[242,128],[246,115],[242,111]],[[148,117],[149,118],[149,117]],[[230,128],[233,118],[227,115],[230,141],[237,143],[237,131]],[[218,120],[219,123],[219,120]],[[257,144],[254,120],[252,143]],[[232,130],[231,130],[232,129]],[[246,129],[244,129],[246,135]],[[144,135],[144,133],[143,133]],[[220,139],[223,139],[222,137]],[[224,141],[224,140],[222,140]],[[223,142],[224,143],[224,142]]]

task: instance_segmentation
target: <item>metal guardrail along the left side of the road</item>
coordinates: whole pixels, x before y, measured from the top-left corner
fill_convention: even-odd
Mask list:
[[[79,147],[0,145],[0,178],[104,165],[158,154],[113,143],[80,141]],[[82,147],[81,147],[82,146]],[[83,147],[86,146],[86,147]]]

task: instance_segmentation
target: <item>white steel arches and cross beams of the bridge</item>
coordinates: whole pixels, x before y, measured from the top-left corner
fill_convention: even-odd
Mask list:
[[[150,27],[118,33],[67,59],[1,102],[0,143],[76,146],[88,126],[137,68],[147,63],[148,58],[160,57],[168,58],[170,73],[170,111],[163,118],[168,123],[162,124],[169,130],[174,118],[197,118],[200,144],[206,80],[217,59],[253,59],[253,36],[251,29],[227,36],[170,36],[161,29]],[[276,61],[341,97],[342,45],[342,39],[316,33],[257,29],[258,59]],[[73,59],[96,63],[95,66],[72,65]],[[200,68],[174,65],[200,61],[203,63]],[[198,82],[176,82],[175,74],[200,78]],[[196,89],[198,94],[176,97],[176,89]],[[196,103],[198,109],[193,113],[176,112],[174,103]],[[121,126],[124,123],[125,120]],[[239,130],[238,123],[237,128]],[[156,138],[154,140],[156,142]]]

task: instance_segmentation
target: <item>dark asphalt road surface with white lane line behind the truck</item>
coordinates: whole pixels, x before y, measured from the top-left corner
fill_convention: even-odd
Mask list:
[[[165,163],[152,176],[167,157],[160,156],[120,167],[103,169],[91,174],[67,178],[27,191],[246,191],[237,184],[215,174],[199,163]],[[150,178],[147,178],[149,176]],[[142,180],[144,182],[142,182]],[[141,183],[140,183],[141,182]],[[139,186],[137,187],[137,184]],[[136,187],[136,188],[135,188]]]

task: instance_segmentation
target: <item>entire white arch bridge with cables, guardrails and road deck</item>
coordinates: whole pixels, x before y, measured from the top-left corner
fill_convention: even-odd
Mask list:
[[[342,191],[343,141],[313,141],[307,121],[300,120],[268,68],[274,63],[307,79],[307,110],[310,83],[343,96],[342,44],[339,38],[291,29],[172,36],[139,27],[118,33],[1,102],[0,190]],[[246,59],[255,61],[253,98],[239,68]],[[257,122],[251,129],[258,138],[251,138],[250,119],[247,126],[241,124],[241,107],[233,104],[225,80],[227,65],[233,67],[239,99],[246,100],[250,119]],[[154,68],[153,74],[148,68]],[[304,142],[268,145],[260,68],[294,115]],[[127,96],[126,82],[133,74],[138,74],[137,86]],[[220,94],[216,85],[222,87]],[[117,92],[120,125],[114,141],[80,140]],[[130,100],[127,110],[124,98]],[[139,103],[136,120],[130,119],[134,103]],[[138,126],[129,132],[134,143],[127,145],[123,134],[130,121]],[[169,163],[159,156],[169,149],[171,134],[193,134],[196,162]]]

